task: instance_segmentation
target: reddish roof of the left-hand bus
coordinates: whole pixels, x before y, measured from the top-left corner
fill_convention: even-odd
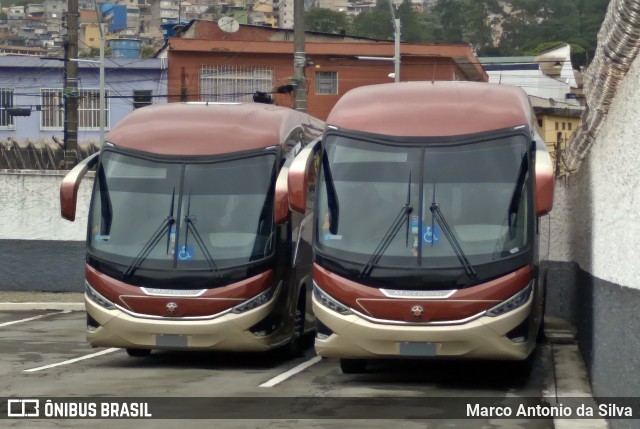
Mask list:
[[[106,140],[160,155],[218,155],[280,145],[300,126],[319,134],[324,123],[271,104],[169,103],[135,110]]]

